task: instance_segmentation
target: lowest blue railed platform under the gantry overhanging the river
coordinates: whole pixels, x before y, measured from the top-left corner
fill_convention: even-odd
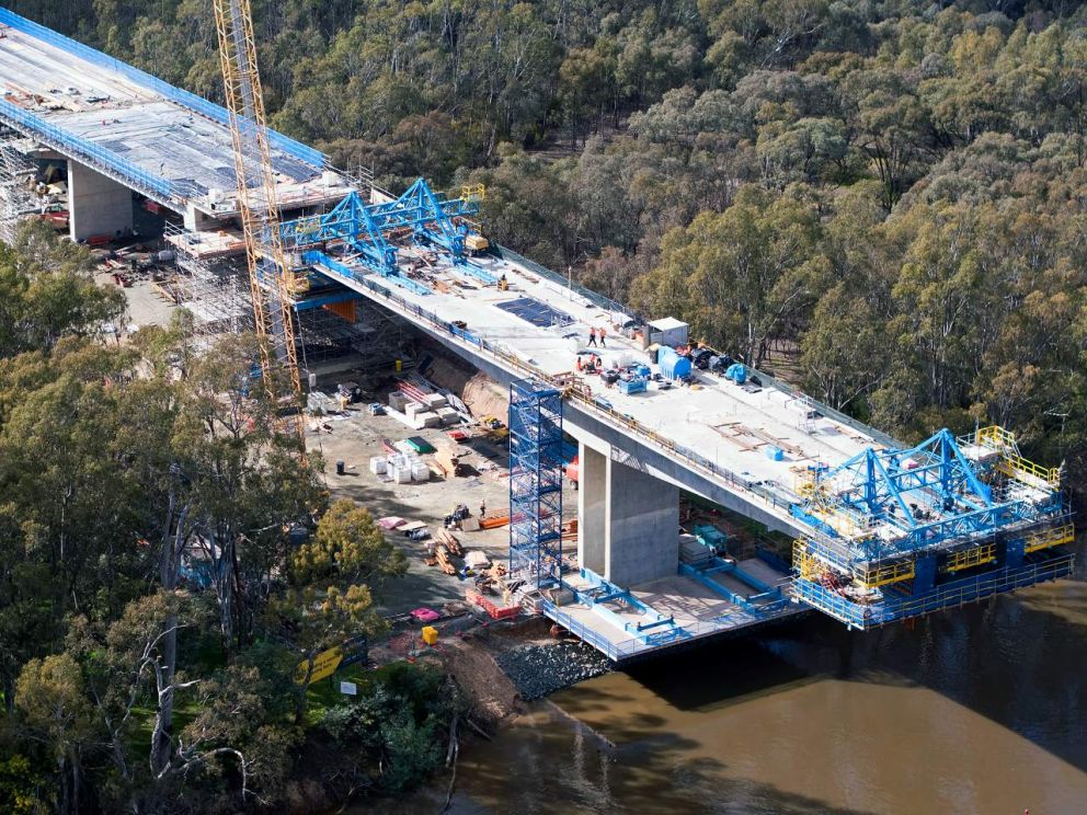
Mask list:
[[[792,595],[850,628],[869,629],[1066,577],[1072,572],[1073,560],[1073,555],[1067,554],[1045,563],[1004,569],[957,581],[947,586],[938,586],[920,597],[884,599],[871,605],[854,602],[833,589],[805,579],[793,581]]]

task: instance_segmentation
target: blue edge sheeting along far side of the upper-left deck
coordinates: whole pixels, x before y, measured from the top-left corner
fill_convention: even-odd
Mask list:
[[[134,68],[133,66],[122,62],[118,59],[114,59],[113,57],[103,54],[100,50],[95,50],[90,46],[83,45],[82,43],[77,43],[75,39],[70,39],[61,34],[57,34],[55,31],[52,31],[49,28],[46,28],[44,25],[38,25],[37,23],[31,20],[22,18],[19,14],[15,14],[13,11],[9,11],[8,9],[0,8],[0,24],[11,26],[14,31],[28,34],[35,39],[39,39],[43,43],[48,43],[49,45],[54,45],[62,50],[68,51],[69,54],[73,54],[80,57],[81,59],[85,59],[87,61],[92,62],[93,65],[119,73],[121,76],[131,80],[133,82],[136,82],[137,84],[144,85],[145,88],[149,88],[152,91],[162,94],[162,96],[170,100],[171,102],[179,104],[183,107],[187,107],[191,111],[195,111],[196,113],[199,113],[203,116],[207,116],[209,119],[213,119],[214,122],[218,122],[219,124],[228,125],[228,126],[230,124],[230,115],[227,113],[227,110],[225,107],[208,102],[205,99],[201,99],[196,94],[190,93],[188,91],[183,91],[180,88],[174,88],[172,84],[170,84],[169,82],[163,82],[158,77],[152,77],[150,73],[141,71],[138,68]],[[2,112],[3,115],[10,115],[10,108],[13,108],[15,111],[22,111],[22,108],[15,105],[11,105],[10,103],[0,103],[0,105],[2,105],[0,106],[0,112]],[[25,111],[23,111],[23,113],[26,114]],[[32,114],[26,114],[26,115],[34,120],[41,122],[41,119],[37,116],[33,116]],[[23,124],[24,126],[28,126],[25,122]],[[34,127],[35,129],[38,129],[38,125],[35,125]],[[70,137],[68,140],[69,141],[71,140]],[[291,138],[288,138],[283,134],[276,133],[275,130],[271,130],[271,129],[268,130],[268,140],[275,147],[279,148],[286,153],[289,153],[290,156],[294,156],[296,159],[299,159],[300,161],[305,161],[309,164],[312,164],[321,169],[328,167],[329,159],[320,150],[316,150],[312,147],[304,145],[299,141],[295,141]],[[113,159],[113,161],[117,162],[118,160]],[[128,162],[124,162],[124,160],[119,160],[119,163],[127,164]],[[137,170],[136,172],[138,173],[137,177],[139,177],[139,175],[146,175],[146,173],[142,173],[141,171]],[[159,183],[161,184],[163,182],[159,180]],[[157,188],[156,192],[159,192],[160,194],[169,194],[169,188],[170,185],[167,183],[165,193],[163,193],[163,190],[160,188]]]

